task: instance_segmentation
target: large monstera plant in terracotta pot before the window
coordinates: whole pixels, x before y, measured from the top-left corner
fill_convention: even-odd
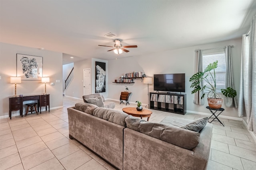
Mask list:
[[[191,88],[194,90],[191,92],[192,94],[196,92],[201,92],[202,90],[208,90],[208,104],[212,109],[220,109],[223,99],[220,96],[220,92],[226,96],[234,98],[236,96],[236,90],[228,87],[227,89],[216,89],[216,75],[215,69],[218,66],[218,61],[214,61],[210,63],[205,69],[204,72],[197,72],[194,74],[189,81],[192,82]],[[208,73],[208,74],[206,74]],[[205,80],[207,84],[204,84],[203,87],[200,86],[200,83]],[[201,99],[204,98],[204,94],[202,94]]]

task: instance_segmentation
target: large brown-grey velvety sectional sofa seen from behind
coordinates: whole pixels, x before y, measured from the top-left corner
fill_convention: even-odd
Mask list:
[[[69,136],[120,170],[205,170],[212,124],[187,130],[189,119],[151,123],[115,109],[77,103],[68,108]],[[202,124],[202,123],[199,123]]]

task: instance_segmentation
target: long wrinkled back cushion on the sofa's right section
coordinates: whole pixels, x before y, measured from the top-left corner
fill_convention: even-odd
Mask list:
[[[161,123],[152,123],[148,121],[135,120],[132,116],[126,117],[128,128],[136,130],[145,135],[160,139],[184,149],[192,150],[200,141],[200,133],[186,129],[164,125]],[[139,125],[138,125],[139,124]]]

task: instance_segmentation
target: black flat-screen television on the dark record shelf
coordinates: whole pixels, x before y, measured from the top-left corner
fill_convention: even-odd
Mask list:
[[[185,73],[154,74],[154,90],[165,92],[185,92]]]

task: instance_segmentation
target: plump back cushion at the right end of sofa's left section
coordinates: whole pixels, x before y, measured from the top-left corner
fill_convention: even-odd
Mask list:
[[[124,119],[128,116],[128,114],[122,111],[98,107],[93,111],[93,115],[101,119],[110,121],[112,123],[116,123],[118,125],[126,127],[126,122]]]

